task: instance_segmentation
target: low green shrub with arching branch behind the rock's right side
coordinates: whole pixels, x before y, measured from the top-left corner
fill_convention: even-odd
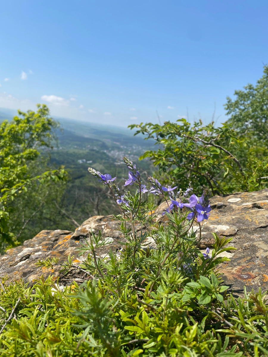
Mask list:
[[[267,146],[246,134],[238,136],[228,124],[217,128],[213,123],[191,125],[180,119],[163,126],[142,123],[130,127],[138,129],[135,134],[142,133],[160,144],[157,151],[146,151],[140,159],[150,157],[166,182],[172,180],[183,190],[189,181],[198,193],[209,187],[218,195],[267,186]]]

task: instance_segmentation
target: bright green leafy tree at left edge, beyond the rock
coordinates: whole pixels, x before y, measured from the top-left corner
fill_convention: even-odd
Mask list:
[[[0,125],[1,249],[6,244],[17,243],[14,230],[20,232],[25,225],[23,209],[29,205],[28,198],[35,196],[37,201],[39,199],[40,211],[44,205],[42,200],[48,195],[45,192],[50,189],[53,191],[54,185],[61,186],[67,178],[63,167],[58,170],[44,170],[47,166],[44,159],[40,158],[40,149],[53,147],[54,131],[59,124],[49,116],[46,105],[38,104],[37,108],[36,112],[18,111],[18,116],[11,122],[6,120]],[[28,190],[32,194],[26,196]],[[36,197],[37,192],[39,198]],[[33,215],[36,210],[32,205],[27,209],[28,216]]]

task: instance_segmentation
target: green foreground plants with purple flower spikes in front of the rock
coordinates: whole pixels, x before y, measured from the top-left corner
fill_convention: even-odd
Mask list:
[[[123,249],[100,258],[96,249],[106,241],[89,232],[78,248],[88,252],[80,266],[88,281],[63,291],[51,277],[32,287],[3,279],[1,356],[267,356],[267,292],[245,291],[244,298],[227,292],[218,265],[228,261],[219,253],[234,249],[231,239],[214,234],[213,249],[198,249],[209,192],[198,197],[190,185],[181,190],[153,177],[147,187],[136,165],[126,157],[124,162],[125,187],[137,187],[132,193],[120,190],[116,177],[89,168],[121,212],[114,218],[124,233]],[[165,226],[154,220],[149,192],[167,203]],[[138,225],[147,229],[137,232]],[[156,248],[146,244],[148,237]],[[62,271],[72,266],[69,257]]]

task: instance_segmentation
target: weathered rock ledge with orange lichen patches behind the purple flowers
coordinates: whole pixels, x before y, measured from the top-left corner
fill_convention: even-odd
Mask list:
[[[226,197],[214,196],[211,200],[212,211],[208,221],[202,228],[200,249],[210,247],[214,243],[212,232],[218,236],[233,237],[232,246],[235,251],[225,252],[223,255],[230,258],[228,263],[220,266],[220,272],[230,290],[240,295],[244,286],[247,290],[268,289],[268,189],[237,193]],[[156,210],[155,220],[165,224],[167,219],[162,216],[166,208],[162,203]],[[23,245],[9,249],[0,257],[0,276],[8,277],[9,282],[23,279],[33,284],[41,275],[45,278],[53,275],[60,279],[62,285],[71,280],[82,282],[84,272],[73,267],[67,276],[60,273],[61,267],[54,269],[38,268],[38,260],[49,257],[59,258],[64,263],[68,256],[74,256],[73,265],[78,266],[87,256],[79,256],[77,248],[80,240],[88,237],[90,228],[97,232],[101,230],[104,238],[109,238],[109,244],[97,250],[100,257],[104,257],[110,248],[116,252],[121,247],[123,236],[118,231],[118,225],[113,216],[94,216],[83,222],[75,232],[64,230],[43,230],[34,238],[27,240]],[[136,229],[145,227],[136,225]],[[198,229],[198,227],[194,227]],[[154,242],[150,242],[153,246]]]

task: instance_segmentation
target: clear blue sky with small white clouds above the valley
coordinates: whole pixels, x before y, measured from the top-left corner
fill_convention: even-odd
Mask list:
[[[268,63],[268,1],[1,3],[0,107],[127,126],[223,122]]]

